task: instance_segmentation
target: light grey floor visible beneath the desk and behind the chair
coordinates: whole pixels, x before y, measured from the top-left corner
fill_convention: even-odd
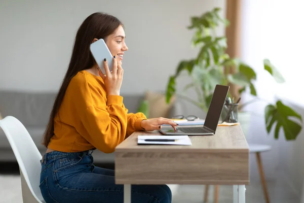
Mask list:
[[[6,165],[8,166],[8,165]],[[3,168],[10,168],[3,170]],[[0,164],[0,203],[19,203],[21,198],[20,176],[18,166],[10,165],[3,167]],[[296,195],[283,180],[267,181],[271,202],[275,203],[299,203],[299,196]],[[203,203],[204,186],[201,185],[180,185],[173,196],[173,203]],[[232,202],[232,186],[219,187],[219,203]],[[213,187],[209,187],[209,202],[213,202]],[[246,186],[246,202],[265,202],[259,180],[251,181]]]

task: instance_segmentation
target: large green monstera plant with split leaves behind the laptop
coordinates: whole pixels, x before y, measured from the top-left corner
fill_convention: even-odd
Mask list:
[[[231,58],[226,54],[226,38],[216,36],[215,28],[220,23],[225,26],[229,25],[229,21],[219,16],[219,11],[219,8],[215,8],[201,16],[191,18],[192,23],[188,29],[195,29],[192,45],[198,47],[200,51],[195,58],[179,62],[175,74],[170,76],[167,84],[167,102],[173,94],[179,94],[176,92],[176,79],[182,72],[187,72],[187,76],[192,79],[191,83],[185,85],[184,91],[193,88],[198,99],[195,100],[184,94],[179,95],[205,112],[208,110],[216,84],[237,85],[240,94],[246,89],[250,89],[250,94],[255,98],[239,105],[239,111],[258,98],[254,86],[255,71],[240,59]],[[264,59],[263,65],[265,72],[271,74],[276,82],[284,82],[284,78],[270,60]],[[231,92],[229,94],[231,95]],[[301,116],[292,108],[284,105],[281,100],[277,100],[275,104],[268,104],[264,109],[264,115],[268,133],[275,125],[275,139],[278,139],[281,127],[283,127],[286,140],[296,139],[302,128]]]

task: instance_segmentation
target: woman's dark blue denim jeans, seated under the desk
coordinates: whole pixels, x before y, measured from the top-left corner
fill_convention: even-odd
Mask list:
[[[92,152],[53,151],[42,159],[40,189],[47,203],[123,203],[124,186],[115,184],[114,171],[93,165]],[[132,185],[132,202],[171,203],[167,185]]]

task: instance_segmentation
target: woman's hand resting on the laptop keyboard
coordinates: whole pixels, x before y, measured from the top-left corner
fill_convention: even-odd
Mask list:
[[[140,126],[146,131],[152,131],[161,129],[163,124],[171,125],[175,131],[176,126],[178,126],[178,124],[173,122],[172,120],[162,117],[142,120]]]

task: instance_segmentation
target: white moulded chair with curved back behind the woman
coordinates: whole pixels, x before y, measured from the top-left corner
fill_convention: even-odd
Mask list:
[[[39,188],[42,156],[28,131],[13,116],[0,120],[0,127],[6,134],[19,165],[23,202],[45,202]]]

